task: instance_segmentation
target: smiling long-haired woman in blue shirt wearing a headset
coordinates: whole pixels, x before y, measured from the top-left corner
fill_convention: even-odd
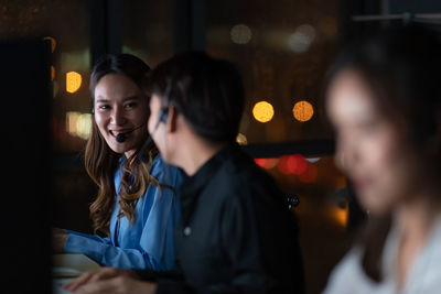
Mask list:
[[[54,230],[55,252],[83,253],[115,268],[173,265],[175,188],[182,172],[163,163],[155,145],[147,141],[149,70],[129,54],[105,56],[94,66],[85,165],[99,187],[90,205],[94,229],[107,238]]]

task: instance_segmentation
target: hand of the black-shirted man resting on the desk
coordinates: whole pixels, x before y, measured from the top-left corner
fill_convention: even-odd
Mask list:
[[[99,268],[98,270],[89,271],[89,272],[82,274],[80,276],[78,276],[77,279],[72,281],[71,283],[65,284],[63,286],[63,288],[66,291],[74,292],[74,291],[77,291],[79,287],[82,287],[82,291],[85,291],[85,290],[83,290],[83,287],[84,287],[84,285],[87,284],[88,286],[85,288],[88,288],[90,291],[90,288],[94,290],[97,287],[95,284],[98,284],[98,286],[99,286],[100,283],[98,283],[98,282],[103,282],[103,281],[109,280],[109,279],[117,279],[117,281],[114,281],[112,283],[119,283],[121,281],[119,281],[118,279],[121,279],[121,277],[130,277],[131,280],[136,281],[135,279],[138,277],[138,275],[132,270],[121,270],[121,269],[115,269],[115,268]],[[108,282],[109,281],[105,281],[104,284],[107,284]],[[95,286],[92,286],[93,284]],[[85,292],[85,293],[88,293],[88,292]],[[90,292],[90,293],[94,293],[94,292]]]

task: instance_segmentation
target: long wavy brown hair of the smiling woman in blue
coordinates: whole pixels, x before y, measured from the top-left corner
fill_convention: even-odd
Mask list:
[[[90,75],[92,111],[94,112],[95,87],[105,75],[121,74],[130,78],[144,91],[150,67],[138,57],[130,54],[106,55],[94,66]],[[148,96],[146,95],[146,99]],[[148,105],[148,104],[147,104]],[[160,186],[150,174],[152,159],[158,154],[154,143],[150,143],[142,154],[147,162],[139,160],[140,146],[137,152],[125,161],[121,166],[122,176],[119,194],[118,217],[126,216],[136,220],[135,206],[142,197],[148,186]],[[98,195],[90,205],[90,218],[95,232],[109,235],[110,217],[116,200],[115,173],[120,164],[121,154],[114,152],[106,143],[93,118],[92,134],[85,150],[85,167],[89,176],[98,185]]]

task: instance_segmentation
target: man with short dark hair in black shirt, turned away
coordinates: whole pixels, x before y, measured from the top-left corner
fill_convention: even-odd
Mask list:
[[[245,105],[237,69],[192,52],[159,65],[150,83],[149,131],[164,161],[189,175],[180,189],[176,266],[165,273],[138,271],[138,279],[133,272],[101,269],[67,288],[302,293],[294,215],[275,179],[235,143]]]

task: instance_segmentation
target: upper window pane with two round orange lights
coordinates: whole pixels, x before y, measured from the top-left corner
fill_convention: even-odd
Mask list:
[[[337,6],[206,1],[206,50],[237,64],[245,79],[248,143],[331,137],[319,98],[336,47]]]

